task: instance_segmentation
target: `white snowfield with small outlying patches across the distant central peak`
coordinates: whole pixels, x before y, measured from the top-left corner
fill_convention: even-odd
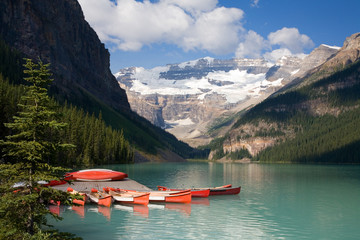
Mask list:
[[[174,64],[152,69],[135,67],[119,72],[115,76],[118,79],[129,76],[131,80],[129,90],[141,95],[195,95],[201,101],[207,96],[215,94],[222,96],[227,104],[238,103],[248,97],[256,98],[269,87],[281,87],[283,85],[283,78],[276,81],[267,80],[266,72],[273,65],[269,65],[269,62],[264,59],[233,59],[226,63],[238,66],[232,70],[212,70],[205,72],[200,78],[198,76],[193,77],[191,74],[186,75],[187,71],[199,67],[199,64],[202,68],[205,64],[205,67],[207,65],[214,69],[214,61],[219,60],[206,57],[177,64],[176,66],[182,69],[179,74],[185,73],[184,76],[188,76],[187,78],[165,79],[162,77],[164,73],[171,71],[175,66]],[[285,64],[285,62],[292,61],[295,60],[284,57],[280,63]],[[295,74],[297,71],[299,70],[293,71],[291,74]]]

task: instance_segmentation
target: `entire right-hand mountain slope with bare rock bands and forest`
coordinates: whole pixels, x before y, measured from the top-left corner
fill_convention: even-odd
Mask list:
[[[252,108],[211,156],[246,149],[259,161],[360,162],[359,42],[359,34],[347,38],[296,85]]]

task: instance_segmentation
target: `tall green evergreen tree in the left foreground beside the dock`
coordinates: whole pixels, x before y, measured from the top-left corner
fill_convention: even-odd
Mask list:
[[[49,64],[26,59],[24,78],[30,83],[18,104],[14,122],[5,124],[11,135],[0,142],[0,236],[4,239],[66,239],[56,231],[43,231],[50,202],[70,204],[69,195],[39,181],[59,180],[67,169],[56,166],[56,152],[71,145],[57,138],[64,123],[57,114],[46,87],[51,83]],[[55,214],[51,214],[59,218]]]

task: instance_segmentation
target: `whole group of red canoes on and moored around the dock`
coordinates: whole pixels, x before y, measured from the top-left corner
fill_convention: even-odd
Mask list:
[[[63,184],[66,181],[117,181],[127,178],[126,173],[109,169],[87,169],[65,174],[65,181],[53,181],[47,186]],[[72,188],[67,191],[74,194],[72,202],[75,205],[84,205],[94,202],[101,206],[111,206],[113,202],[121,204],[148,205],[149,202],[190,203],[192,197],[206,198],[211,195],[239,194],[241,187],[232,187],[231,184],[211,188],[174,189],[158,186],[158,191],[139,192],[119,188],[106,187],[103,191],[92,188],[90,192],[78,192]],[[75,197],[76,196],[76,197]]]

